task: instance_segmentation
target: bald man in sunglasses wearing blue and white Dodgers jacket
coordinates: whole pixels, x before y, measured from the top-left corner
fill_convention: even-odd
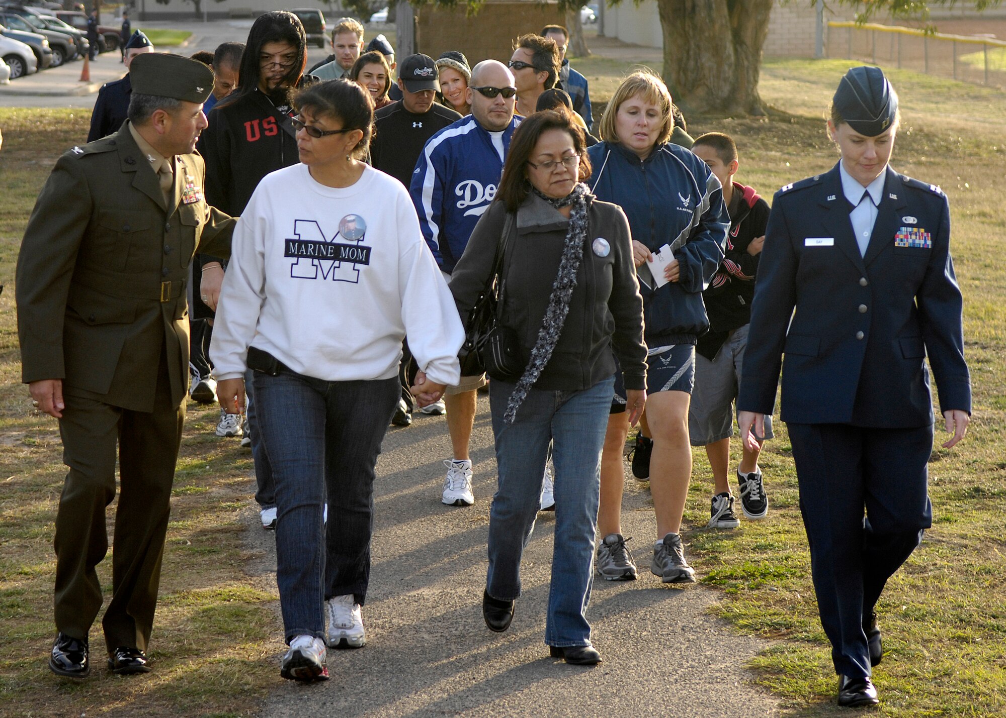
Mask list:
[[[466,93],[472,114],[430,138],[409,187],[423,236],[447,279],[479,217],[496,196],[510,138],[519,122],[513,116],[517,94],[513,74],[502,62],[484,60],[475,65]],[[454,459],[445,462],[448,472],[442,501],[451,506],[475,503],[468,444],[475,423],[476,390],[485,383],[485,376],[463,376],[444,397]]]

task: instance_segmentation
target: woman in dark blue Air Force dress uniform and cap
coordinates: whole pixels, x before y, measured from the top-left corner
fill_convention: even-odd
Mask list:
[[[737,398],[752,446],[786,354],[782,418],[843,706],[877,703],[874,607],[932,524],[927,354],[954,431],[945,447],[971,411],[950,208],[938,187],[887,166],[897,125],[883,72],[850,69],[828,121],[840,162],[776,194]]]

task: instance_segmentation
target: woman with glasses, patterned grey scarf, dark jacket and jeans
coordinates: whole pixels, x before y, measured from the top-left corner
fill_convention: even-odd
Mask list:
[[[465,319],[503,240],[500,322],[516,333],[525,362],[516,381],[490,374],[499,485],[490,511],[486,624],[503,632],[513,618],[551,443],[555,543],[545,643],[553,658],[583,665],[601,662],[585,610],[616,356],[634,423],[646,401],[643,301],[629,223],[621,208],[595,200],[582,184],[590,174],[583,132],[566,114],[525,120],[496,201],[451,280]]]

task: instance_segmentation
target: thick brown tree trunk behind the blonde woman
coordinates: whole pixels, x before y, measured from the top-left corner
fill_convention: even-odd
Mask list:
[[[764,115],[758,82],[773,0],[657,0],[664,80],[692,112]]]

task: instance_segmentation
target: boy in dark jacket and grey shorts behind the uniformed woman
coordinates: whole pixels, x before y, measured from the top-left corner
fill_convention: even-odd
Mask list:
[[[737,397],[747,324],[750,322],[754,277],[769,223],[769,205],[750,187],[733,181],[737,171],[737,148],[728,135],[710,132],[692,146],[723,185],[723,201],[730,215],[726,251],[719,271],[702,293],[709,331],[695,346],[695,389],[688,411],[688,430],[693,446],[705,446],[715,482],[711,528],[735,528],[733,496],[727,481],[730,436],[733,435],[733,401]],[[766,416],[766,438],[772,423]],[[769,499],[758,467],[759,452],[746,447],[737,468],[740,503],[744,516],[761,519],[769,511]]]

